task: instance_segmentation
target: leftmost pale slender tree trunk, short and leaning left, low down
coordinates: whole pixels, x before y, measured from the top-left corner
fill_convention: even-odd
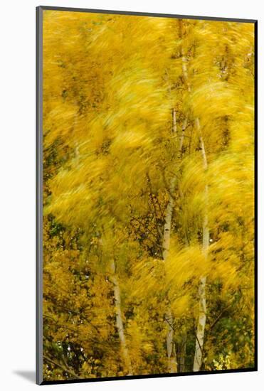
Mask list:
[[[112,259],[110,266],[112,272],[111,282],[114,286],[115,296],[115,324],[117,326],[118,336],[120,338],[122,358],[124,360],[124,367],[127,375],[133,375],[130,354],[127,349],[127,340],[124,332],[124,323],[122,320],[120,285],[117,279],[117,274],[115,272],[115,259]]]

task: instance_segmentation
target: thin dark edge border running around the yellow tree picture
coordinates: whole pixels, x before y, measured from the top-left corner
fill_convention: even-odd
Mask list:
[[[96,377],[71,380],[43,380],[43,323],[42,323],[42,298],[43,298],[43,205],[42,205],[42,186],[43,186],[43,145],[42,145],[42,82],[43,82],[43,11],[72,11],[87,12],[97,14],[120,14],[131,16],[153,16],[164,18],[186,18],[205,21],[233,21],[239,23],[254,24],[254,217],[255,217],[255,365],[253,368],[239,368],[231,370],[199,371],[186,373],[160,373],[150,375],[133,375],[120,377]],[[241,18],[221,18],[211,16],[187,16],[176,14],[153,14],[147,12],[134,11],[111,11],[102,9],[81,9],[56,6],[38,6],[36,7],[36,384],[38,385],[56,385],[80,382],[102,382],[112,380],[134,380],[149,379],[161,377],[181,377],[193,375],[216,375],[221,373],[248,373],[258,371],[258,20]]]

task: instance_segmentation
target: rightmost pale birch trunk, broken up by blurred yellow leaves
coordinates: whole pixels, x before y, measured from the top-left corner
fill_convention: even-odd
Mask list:
[[[204,148],[204,140],[201,135],[201,127],[199,119],[195,119],[196,129],[199,132],[199,140],[201,146],[201,155],[203,158],[204,171],[208,168],[206,150]],[[203,252],[204,257],[207,257],[209,247],[209,228],[208,228],[208,185],[204,188],[205,208],[204,208],[204,221],[203,221]],[[203,363],[203,347],[204,347],[204,331],[206,327],[206,276],[200,278],[199,282],[199,318],[196,331],[196,347],[194,353],[194,372],[201,370]]]

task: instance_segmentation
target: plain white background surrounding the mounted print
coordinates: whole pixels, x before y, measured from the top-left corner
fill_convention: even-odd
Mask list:
[[[196,16],[258,19],[259,107],[263,106],[263,23],[260,0],[4,0],[0,17],[0,387],[31,390],[35,369],[35,7],[75,6]],[[263,168],[263,115],[259,109],[259,167]],[[259,168],[259,280],[263,267],[263,179]],[[262,220],[262,221],[261,221]],[[260,285],[260,283],[259,283]],[[259,287],[259,372],[51,385],[56,390],[261,390],[263,286]]]

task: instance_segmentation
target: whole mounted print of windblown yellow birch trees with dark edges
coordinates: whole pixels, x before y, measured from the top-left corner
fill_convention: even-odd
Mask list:
[[[257,369],[256,26],[38,7],[38,384]]]

